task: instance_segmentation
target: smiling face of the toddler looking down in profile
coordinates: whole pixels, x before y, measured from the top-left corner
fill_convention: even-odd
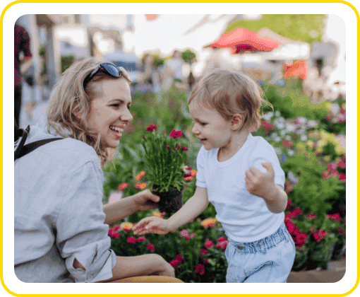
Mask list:
[[[193,102],[188,108],[194,122],[191,132],[203,143],[206,150],[229,144],[232,136],[231,121],[225,120],[216,110],[198,107]]]

